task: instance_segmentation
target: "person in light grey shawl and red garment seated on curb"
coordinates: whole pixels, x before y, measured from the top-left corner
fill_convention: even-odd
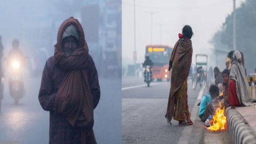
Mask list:
[[[229,75],[228,100],[231,108],[252,106],[249,84],[244,70],[243,53],[235,50],[232,56],[232,67]]]

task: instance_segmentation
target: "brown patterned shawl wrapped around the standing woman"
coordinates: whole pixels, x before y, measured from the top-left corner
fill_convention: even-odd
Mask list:
[[[180,38],[172,50],[170,58],[170,61],[172,61],[171,89],[166,112],[166,118],[169,122],[171,122],[174,114],[175,96],[173,95],[182,86],[189,75],[192,54],[192,42],[188,38]]]

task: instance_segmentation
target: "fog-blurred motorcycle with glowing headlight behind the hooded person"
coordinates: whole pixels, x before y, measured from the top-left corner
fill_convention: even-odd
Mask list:
[[[24,81],[19,60],[12,60],[9,74],[9,92],[17,105],[19,99],[24,96]]]

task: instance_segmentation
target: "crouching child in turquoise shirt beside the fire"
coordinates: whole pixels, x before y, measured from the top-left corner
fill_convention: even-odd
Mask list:
[[[210,115],[213,115],[214,108],[212,106],[212,99],[219,96],[218,86],[211,84],[209,92],[207,92],[201,99],[198,116],[201,121],[205,122]]]

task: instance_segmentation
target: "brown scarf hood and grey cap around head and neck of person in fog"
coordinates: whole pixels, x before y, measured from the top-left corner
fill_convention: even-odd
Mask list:
[[[73,28],[75,28],[75,30]],[[66,56],[61,45],[63,36],[66,37],[74,35],[75,37],[76,33],[78,33],[79,36],[79,48],[74,50],[70,56]],[[62,69],[75,70],[83,69],[86,67],[89,50],[85,41],[84,30],[77,19],[70,17],[61,24],[58,31],[57,44],[55,44],[54,47],[54,62],[55,64],[58,64]]]

